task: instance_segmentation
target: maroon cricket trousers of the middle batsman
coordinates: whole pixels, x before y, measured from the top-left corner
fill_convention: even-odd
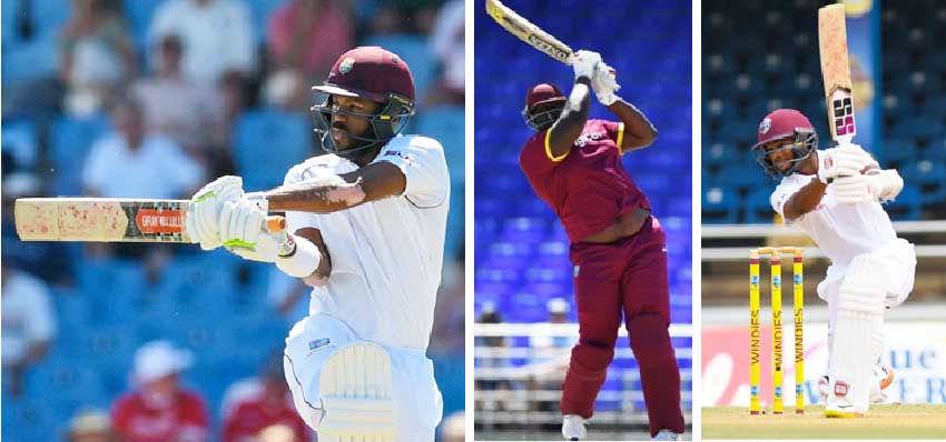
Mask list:
[[[683,433],[680,369],[670,344],[667,235],[650,217],[633,235],[608,244],[571,247],[579,341],[562,386],[562,414],[591,418],[623,312],[631,351],[640,368],[650,435]]]

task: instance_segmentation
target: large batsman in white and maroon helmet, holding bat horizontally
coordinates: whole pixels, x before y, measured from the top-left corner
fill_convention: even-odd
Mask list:
[[[392,52],[353,49],[313,90],[325,97],[315,131],[332,153],[266,192],[217,179],[191,200],[187,231],[205,250],[225,245],[314,287],[284,361],[319,441],[432,442],[443,401],[425,351],[450,198],[443,148],[400,134],[414,80]],[[286,212],[285,231],[264,229],[270,210]]]

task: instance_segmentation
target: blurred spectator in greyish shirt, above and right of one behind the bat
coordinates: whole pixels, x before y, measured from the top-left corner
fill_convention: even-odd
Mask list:
[[[161,37],[155,77],[137,80],[131,97],[141,103],[148,133],[167,135],[189,152],[206,157],[213,144],[207,128],[223,118],[223,107],[215,89],[181,76],[183,51],[178,36]]]

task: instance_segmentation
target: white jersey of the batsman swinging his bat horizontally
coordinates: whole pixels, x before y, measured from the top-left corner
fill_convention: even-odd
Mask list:
[[[443,148],[427,137],[397,135],[378,161],[404,172],[403,194],[333,213],[286,212],[287,228],[318,229],[332,257],[328,284],[313,290],[309,315],[337,318],[366,341],[426,350],[450,205]],[[356,169],[335,154],[315,157],[293,167],[285,183]]]

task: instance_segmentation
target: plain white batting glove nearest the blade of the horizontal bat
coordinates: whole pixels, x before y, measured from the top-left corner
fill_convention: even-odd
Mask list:
[[[227,201],[243,197],[243,179],[234,175],[220,177],[190,198],[187,205],[185,229],[191,242],[199,242],[200,249],[214,250],[220,247],[218,229],[220,210]]]

